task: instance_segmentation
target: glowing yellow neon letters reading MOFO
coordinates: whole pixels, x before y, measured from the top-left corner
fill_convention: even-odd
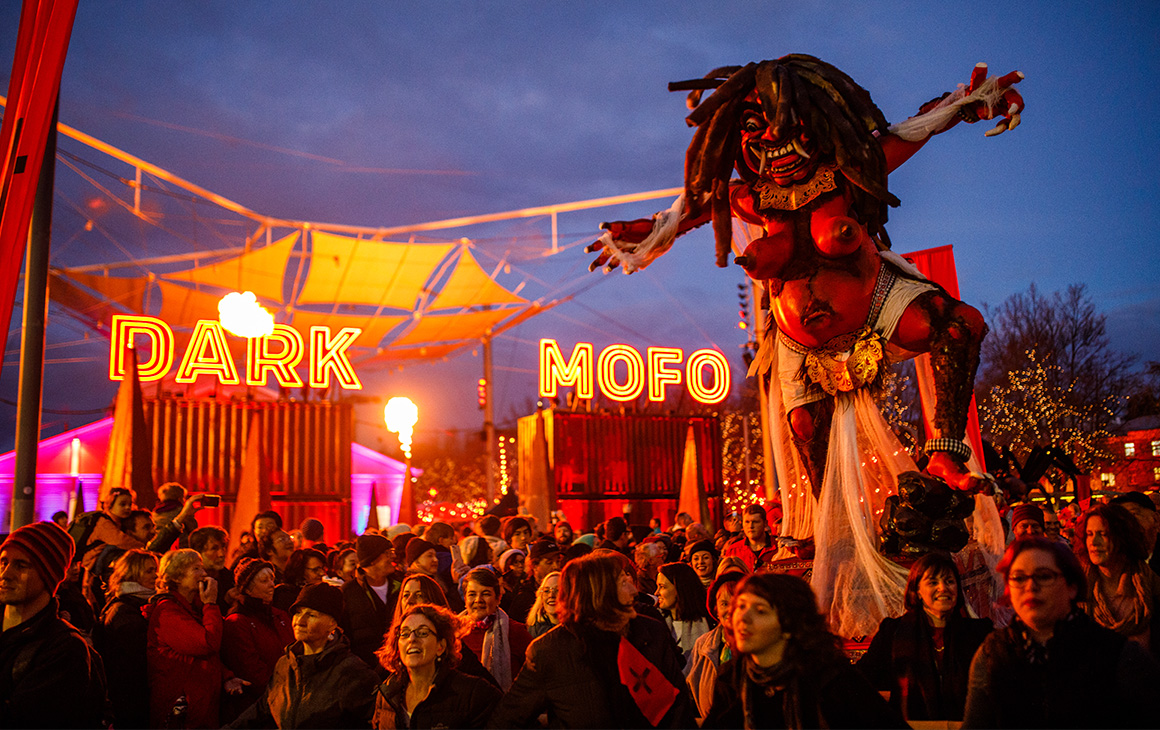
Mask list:
[[[698,349],[684,359],[677,347],[650,347],[641,356],[629,345],[609,345],[594,357],[590,342],[578,342],[565,359],[552,339],[539,341],[539,395],[554,398],[559,388],[574,388],[581,399],[589,399],[596,388],[610,400],[635,400],[648,389],[648,400],[661,403],[669,385],[683,381],[695,400],[712,405],[728,396],[730,369],[725,355],[716,349]],[[684,368],[674,367],[684,362]],[[617,375],[623,364],[623,375]],[[709,377],[706,378],[706,370]]]

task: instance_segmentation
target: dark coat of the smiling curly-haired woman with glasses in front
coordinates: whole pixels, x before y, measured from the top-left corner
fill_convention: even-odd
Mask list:
[[[503,693],[495,685],[458,670],[442,667],[427,699],[415,706],[409,721],[406,693],[411,678],[406,670],[391,674],[375,695],[376,730],[396,728],[483,728]]]

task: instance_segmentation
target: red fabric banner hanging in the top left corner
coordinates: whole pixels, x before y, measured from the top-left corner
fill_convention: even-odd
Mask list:
[[[0,125],[0,325],[8,332],[78,0],[24,0]]]

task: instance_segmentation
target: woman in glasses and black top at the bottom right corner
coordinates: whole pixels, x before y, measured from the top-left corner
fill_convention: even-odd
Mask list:
[[[1065,545],[1016,540],[999,572],[1016,617],[974,655],[964,728],[1154,727],[1160,666],[1078,608],[1087,580]]]

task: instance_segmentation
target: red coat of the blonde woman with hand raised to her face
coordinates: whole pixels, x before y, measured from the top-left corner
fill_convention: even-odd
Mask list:
[[[148,619],[146,656],[150,722],[169,725],[177,698],[184,695],[184,728],[219,728],[222,685],[233,677],[222,664],[222,609],[191,605],[176,593],[155,595],[144,608]]]

